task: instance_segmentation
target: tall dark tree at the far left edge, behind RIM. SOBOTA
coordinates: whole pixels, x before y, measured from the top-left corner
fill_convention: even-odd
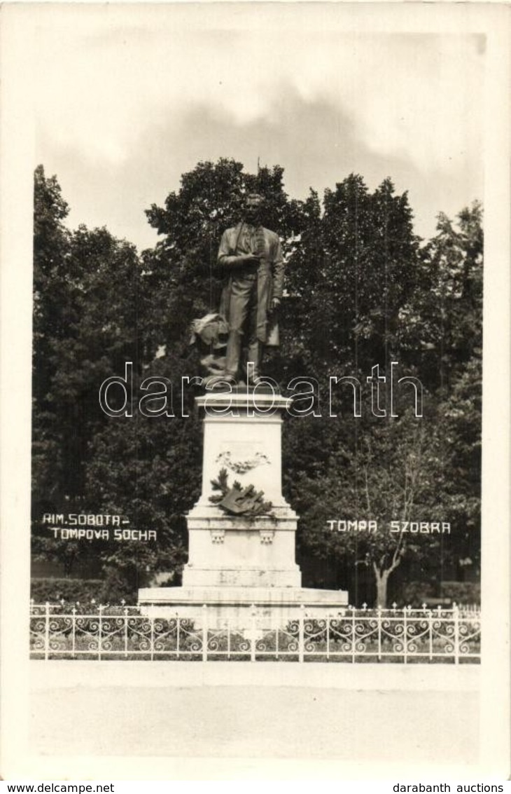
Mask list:
[[[33,557],[71,572],[94,549],[58,541],[44,512],[84,506],[90,441],[106,421],[103,380],[138,359],[140,264],[133,245],[106,229],[63,226],[56,177],[37,168],[34,193]],[[96,510],[94,510],[96,512]]]

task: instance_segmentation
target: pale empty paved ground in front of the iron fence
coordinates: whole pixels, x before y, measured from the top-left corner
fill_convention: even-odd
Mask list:
[[[478,669],[342,665],[343,671],[341,665],[277,663],[273,673],[263,664],[234,663],[225,672],[216,662],[170,664],[33,663],[33,749],[81,756],[477,762]],[[187,676],[197,685],[186,686]],[[286,677],[288,685],[282,684]]]

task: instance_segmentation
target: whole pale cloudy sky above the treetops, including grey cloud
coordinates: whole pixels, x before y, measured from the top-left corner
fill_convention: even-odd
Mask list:
[[[294,198],[351,172],[371,189],[390,176],[431,236],[440,210],[482,198],[485,38],[354,17],[322,4],[53,6],[34,41],[34,166],[57,175],[72,227],[106,225],[140,249],[157,240],[144,209],[221,156],[281,164]]]

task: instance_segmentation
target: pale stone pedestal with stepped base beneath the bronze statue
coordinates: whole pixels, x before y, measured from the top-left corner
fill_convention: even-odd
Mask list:
[[[240,628],[248,625],[243,625],[248,607],[255,607],[268,626],[285,624],[302,605],[317,616],[345,607],[346,592],[302,588],[294,561],[298,516],[282,496],[282,414],[290,399],[238,388],[211,391],[196,403],[204,412],[202,494],[186,516],[189,556],[183,587],[140,589],[140,606],[152,614],[203,619],[206,604],[209,626],[229,620]],[[211,480],[222,468],[229,487],[237,480],[242,488],[263,491],[272,515],[234,516],[211,503]]]

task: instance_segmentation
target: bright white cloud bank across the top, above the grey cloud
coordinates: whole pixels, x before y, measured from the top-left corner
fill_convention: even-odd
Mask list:
[[[287,94],[325,100],[376,153],[450,168],[479,141],[481,56],[475,37],[339,36],[193,30],[109,36],[54,30],[40,39],[38,114],[84,156],[129,158],[140,131],[194,106],[232,125],[267,118]],[[451,159],[449,159],[451,158]]]

